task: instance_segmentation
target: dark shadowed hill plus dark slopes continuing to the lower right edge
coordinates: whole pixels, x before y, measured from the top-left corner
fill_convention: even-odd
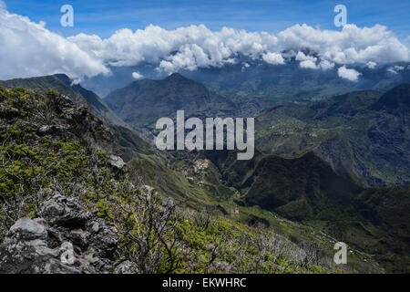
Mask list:
[[[390,271],[408,271],[408,185],[364,190],[312,151],[292,158],[257,152],[251,161],[237,161],[230,151],[203,155],[217,166],[227,186],[241,193],[234,195],[238,205],[258,206],[273,216],[318,227],[374,256]]]

